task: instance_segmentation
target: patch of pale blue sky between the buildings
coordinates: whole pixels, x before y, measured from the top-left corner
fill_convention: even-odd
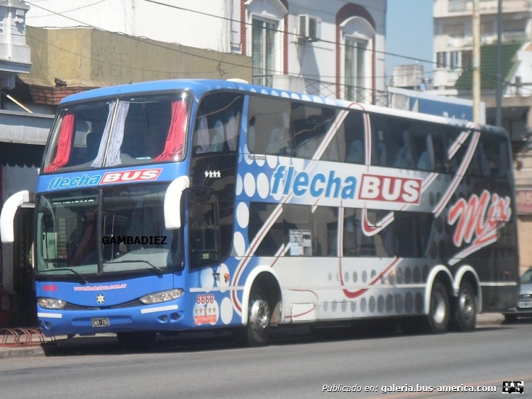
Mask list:
[[[386,16],[386,82],[392,77],[394,65],[416,62],[389,53],[420,60],[424,77],[431,77],[433,60],[433,0],[388,0]]]

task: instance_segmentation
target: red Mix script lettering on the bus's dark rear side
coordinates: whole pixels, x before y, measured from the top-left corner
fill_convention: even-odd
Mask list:
[[[491,201],[490,201],[491,200]],[[473,194],[469,200],[460,198],[450,208],[447,222],[458,222],[453,235],[453,244],[462,243],[482,248],[497,241],[497,229],[504,226],[511,217],[510,197],[499,197],[483,190],[480,197]]]

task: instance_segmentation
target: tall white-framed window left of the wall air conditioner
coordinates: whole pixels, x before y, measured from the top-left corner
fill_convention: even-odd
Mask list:
[[[277,22],[253,18],[251,29],[251,59],[253,84],[271,87],[275,72],[275,33]]]

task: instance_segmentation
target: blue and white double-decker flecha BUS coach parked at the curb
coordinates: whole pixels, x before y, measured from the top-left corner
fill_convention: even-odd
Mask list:
[[[438,116],[170,80],[65,98],[35,192],[47,336],[416,317],[475,328],[516,303],[509,136]]]

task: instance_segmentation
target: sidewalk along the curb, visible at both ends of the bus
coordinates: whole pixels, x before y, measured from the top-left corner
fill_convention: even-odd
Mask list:
[[[504,322],[504,316],[501,313],[482,313],[477,317],[478,327],[496,327],[502,322]],[[3,340],[4,337],[0,337],[0,361],[23,356],[45,356],[46,346],[55,345],[54,341],[57,345],[65,345],[71,349],[77,345],[92,344],[93,339],[97,339],[99,344],[113,344],[116,342],[114,334],[99,334],[97,337],[74,337],[72,339],[67,339],[66,336],[48,338],[33,334],[27,340],[21,339],[20,341],[24,343],[19,346],[1,345],[2,342],[13,343],[13,337],[10,338]]]

